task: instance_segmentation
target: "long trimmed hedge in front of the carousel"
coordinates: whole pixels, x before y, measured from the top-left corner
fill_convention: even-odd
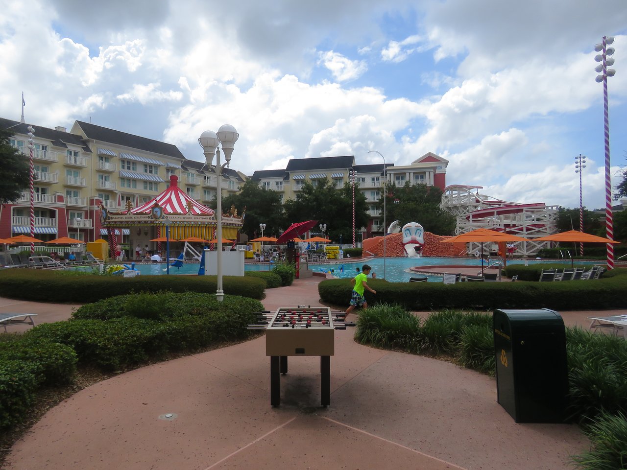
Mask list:
[[[263,298],[266,283],[253,276],[224,276],[225,294]],[[3,269],[0,271],[0,296],[45,302],[94,302],[131,292],[215,293],[216,276],[65,276],[63,271]]]

